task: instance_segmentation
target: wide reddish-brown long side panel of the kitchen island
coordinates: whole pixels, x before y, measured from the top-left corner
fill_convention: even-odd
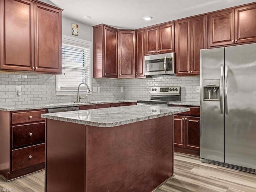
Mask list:
[[[86,136],[86,192],[151,192],[173,175],[173,115]]]

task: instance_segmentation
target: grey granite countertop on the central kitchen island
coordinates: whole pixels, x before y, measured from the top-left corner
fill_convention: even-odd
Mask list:
[[[186,111],[189,111],[189,108],[133,105],[71,112],[47,113],[41,114],[41,117],[97,127],[114,127]]]

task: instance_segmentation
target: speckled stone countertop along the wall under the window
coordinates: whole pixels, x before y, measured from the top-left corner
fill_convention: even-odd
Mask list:
[[[74,107],[82,105],[96,105],[107,103],[124,103],[124,102],[137,102],[130,100],[114,100],[114,101],[88,101],[88,102],[66,102],[66,103],[53,103],[53,104],[36,104],[36,105],[7,105],[0,106],[1,111],[18,111],[18,110],[30,110],[30,109],[48,109],[58,107]]]

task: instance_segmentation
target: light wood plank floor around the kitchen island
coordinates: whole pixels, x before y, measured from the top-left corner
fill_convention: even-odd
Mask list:
[[[174,155],[174,175],[156,192],[256,192],[256,174],[201,163],[197,157],[180,153]],[[1,188],[44,192],[44,171],[10,182],[0,178]]]

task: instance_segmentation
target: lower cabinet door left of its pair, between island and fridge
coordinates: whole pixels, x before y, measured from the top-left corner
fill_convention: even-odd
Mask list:
[[[184,116],[173,117],[173,140],[175,147],[185,148],[184,142]]]

